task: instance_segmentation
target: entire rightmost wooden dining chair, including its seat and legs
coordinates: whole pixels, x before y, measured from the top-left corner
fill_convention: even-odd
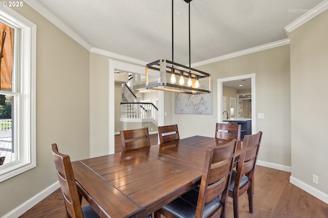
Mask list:
[[[253,213],[254,169],[261,139],[262,132],[244,137],[238,169],[232,172],[228,193],[229,197],[233,198],[234,217],[239,216],[238,199],[245,191],[248,193],[250,213]]]

